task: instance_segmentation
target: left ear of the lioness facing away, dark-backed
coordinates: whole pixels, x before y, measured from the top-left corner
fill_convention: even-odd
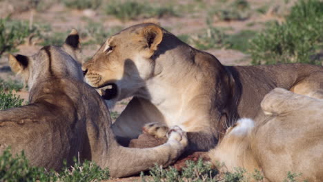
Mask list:
[[[25,70],[29,62],[28,57],[21,54],[17,54],[16,56],[9,54],[8,59],[11,70],[16,73],[20,73]]]

